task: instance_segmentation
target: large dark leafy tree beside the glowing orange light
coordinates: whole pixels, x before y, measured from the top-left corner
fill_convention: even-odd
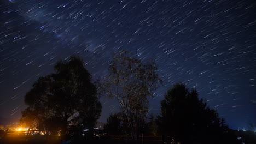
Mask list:
[[[21,123],[38,130],[61,130],[62,134],[75,123],[92,129],[102,106],[82,59],[71,56],[68,62],[57,62],[54,70],[39,77],[26,93],[28,107],[22,111]]]

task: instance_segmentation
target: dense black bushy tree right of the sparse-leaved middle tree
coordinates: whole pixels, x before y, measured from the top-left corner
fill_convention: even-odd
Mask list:
[[[198,98],[196,89],[189,91],[182,83],[176,83],[165,94],[158,125],[162,134],[183,143],[221,143],[229,131],[217,111]]]

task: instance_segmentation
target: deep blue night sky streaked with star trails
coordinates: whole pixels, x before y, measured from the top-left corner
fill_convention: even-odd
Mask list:
[[[20,118],[24,95],[53,64],[75,54],[94,79],[112,53],[129,50],[159,66],[163,85],[149,113],[176,82],[195,87],[232,129],[256,122],[256,2],[0,0],[0,117]],[[116,99],[102,97],[106,122]]]

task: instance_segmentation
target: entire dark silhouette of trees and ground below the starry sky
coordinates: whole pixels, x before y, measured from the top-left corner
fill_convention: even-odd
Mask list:
[[[148,98],[161,83],[157,65],[126,51],[113,56],[103,82],[92,81],[79,57],[57,62],[54,69],[26,93],[28,107],[19,127],[5,128],[1,143],[255,143],[253,130],[248,136],[231,130],[195,88],[183,83],[168,89],[160,115],[147,119]],[[104,130],[96,127],[100,95],[116,98],[121,108],[110,115]]]

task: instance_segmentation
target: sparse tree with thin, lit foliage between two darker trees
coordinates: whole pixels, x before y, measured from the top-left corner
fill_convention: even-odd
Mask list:
[[[144,63],[122,50],[114,54],[109,74],[104,79],[103,91],[119,101],[133,139],[148,112],[147,97],[153,95],[161,82],[156,70],[154,61]]]

